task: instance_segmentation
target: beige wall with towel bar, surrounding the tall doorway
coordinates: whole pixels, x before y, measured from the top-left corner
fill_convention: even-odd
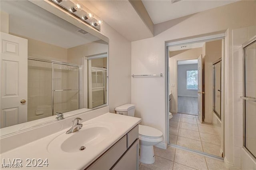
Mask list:
[[[132,74],[165,73],[165,42],[189,39],[209,35],[214,32],[226,34],[226,93],[225,101],[225,129],[226,156],[225,162],[234,165],[234,123],[232,103],[232,30],[252,26],[256,23],[256,1],[239,1],[226,6],[220,6],[190,16],[178,18],[165,23],[156,24],[155,36],[132,42]],[[189,28],[189,30],[188,30]],[[136,116],[142,118],[142,124],[158,128],[164,134],[167,142],[167,113],[166,113],[166,75],[162,78],[134,78],[132,79],[132,103],[136,105]]]

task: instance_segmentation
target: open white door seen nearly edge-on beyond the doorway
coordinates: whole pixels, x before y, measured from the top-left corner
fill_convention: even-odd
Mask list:
[[[203,72],[203,63],[202,63],[203,59],[202,59],[202,55],[199,56],[198,58],[198,92],[197,92],[197,96],[198,96],[198,118],[200,120],[200,122],[202,123],[203,121],[203,76],[202,76],[202,72]]]

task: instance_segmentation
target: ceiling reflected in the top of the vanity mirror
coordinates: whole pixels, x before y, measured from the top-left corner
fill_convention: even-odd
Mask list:
[[[100,40],[29,1],[1,1],[1,10],[9,13],[9,32],[23,37],[63,48]]]

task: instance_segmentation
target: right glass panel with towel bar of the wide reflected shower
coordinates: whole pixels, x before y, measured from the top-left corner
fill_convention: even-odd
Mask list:
[[[54,63],[53,69],[54,114],[79,109],[79,67]]]

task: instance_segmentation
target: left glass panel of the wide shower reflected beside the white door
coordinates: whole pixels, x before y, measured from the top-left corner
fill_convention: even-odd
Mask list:
[[[28,121],[52,115],[52,65],[28,60]]]

